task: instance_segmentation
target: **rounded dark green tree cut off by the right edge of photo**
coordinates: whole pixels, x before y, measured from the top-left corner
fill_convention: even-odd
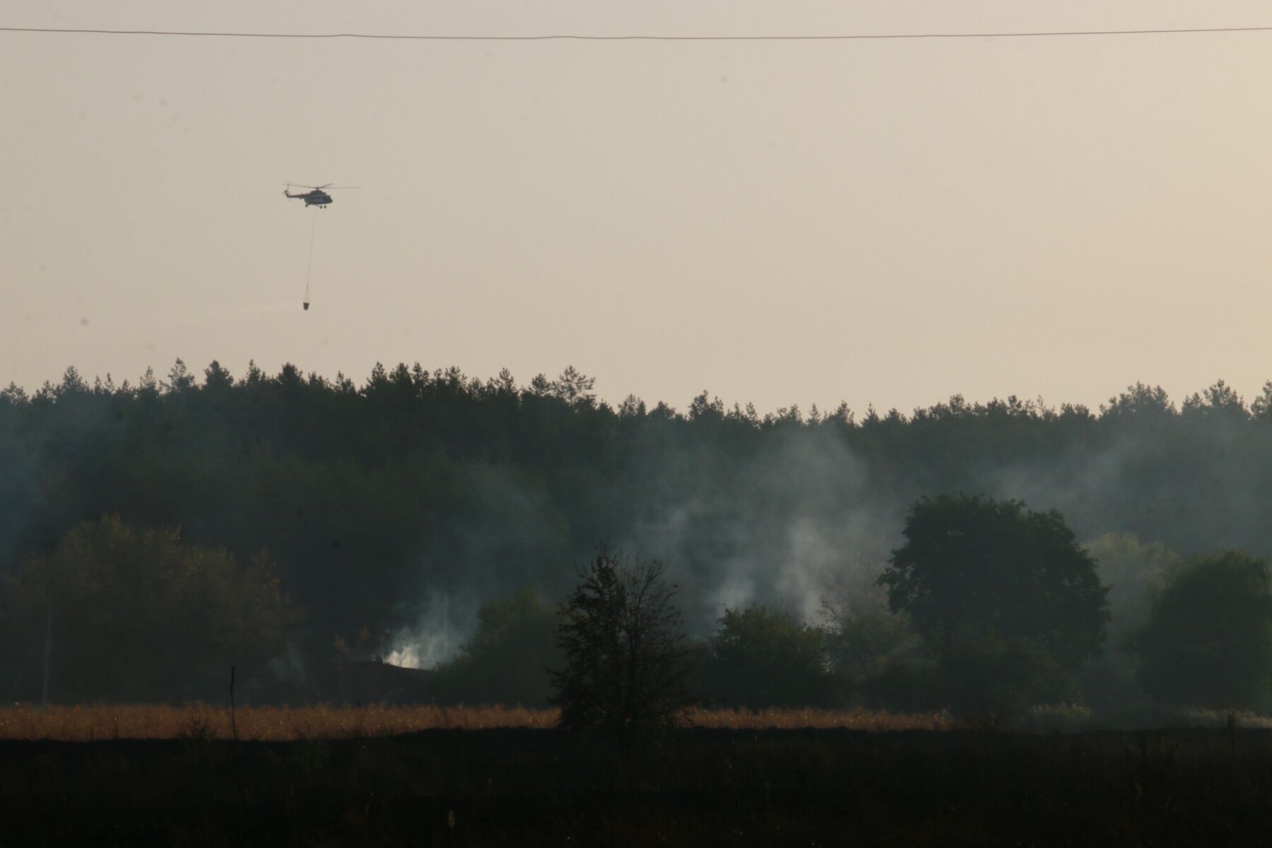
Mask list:
[[[1272,586],[1240,551],[1189,559],[1127,646],[1144,689],[1172,704],[1272,707]]]

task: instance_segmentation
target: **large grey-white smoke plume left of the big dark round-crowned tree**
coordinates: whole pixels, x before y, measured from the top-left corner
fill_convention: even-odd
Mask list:
[[[688,491],[650,505],[621,547],[668,564],[698,636],[725,609],[754,604],[822,620],[828,599],[873,584],[904,515],[842,440],[817,430],[773,436],[725,474],[681,482]]]

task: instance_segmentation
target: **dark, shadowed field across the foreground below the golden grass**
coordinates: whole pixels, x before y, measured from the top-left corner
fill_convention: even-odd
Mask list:
[[[5,845],[1272,844],[1272,732],[0,742]]]

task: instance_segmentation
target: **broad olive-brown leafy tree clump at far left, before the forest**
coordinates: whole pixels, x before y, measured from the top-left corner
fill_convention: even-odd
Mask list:
[[[5,643],[42,651],[52,618],[51,695],[61,702],[223,698],[230,666],[262,674],[293,613],[261,554],[239,562],[174,528],[106,516],[28,558],[0,587]]]

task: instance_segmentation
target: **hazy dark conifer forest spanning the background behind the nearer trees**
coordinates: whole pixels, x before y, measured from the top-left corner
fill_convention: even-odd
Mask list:
[[[929,493],[1056,509],[1085,540],[1263,556],[1269,467],[1272,383],[1249,403],[1219,381],[1178,404],[1136,384],[1098,409],[954,395],[909,414],[759,414],[706,392],[684,409],[611,406],[572,367],[528,384],[404,364],[361,383],[293,365],[178,361],[135,384],[67,369],[0,392],[0,571],[102,516],[179,528],[244,573],[268,562],[304,664],[337,642],[459,639],[491,599],[563,596],[609,540],[668,564],[706,639],[726,609],[798,624],[869,596]],[[1112,631],[1146,586],[1113,586]]]

